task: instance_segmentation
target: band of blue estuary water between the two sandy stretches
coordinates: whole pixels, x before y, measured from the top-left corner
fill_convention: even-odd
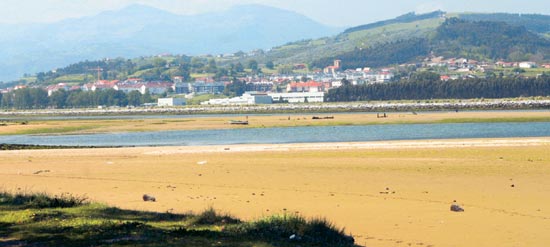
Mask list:
[[[548,136],[550,136],[550,122],[455,123],[185,130],[83,135],[10,135],[0,136],[0,143],[65,146],[196,146]]]

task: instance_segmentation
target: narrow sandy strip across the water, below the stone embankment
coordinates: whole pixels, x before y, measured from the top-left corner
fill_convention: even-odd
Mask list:
[[[327,119],[314,119],[314,117]],[[248,125],[232,125],[232,120]],[[4,119],[0,135],[16,134],[90,134],[110,132],[206,130],[231,128],[271,128],[300,126],[344,126],[373,124],[478,123],[478,122],[548,122],[550,111],[480,111],[480,112],[395,112],[303,115],[240,115],[212,117],[170,117],[132,119]],[[0,120],[2,123],[2,120]]]

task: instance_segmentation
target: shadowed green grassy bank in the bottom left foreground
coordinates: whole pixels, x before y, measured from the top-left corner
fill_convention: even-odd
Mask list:
[[[0,240],[8,246],[354,246],[324,219],[283,215],[242,222],[212,208],[141,212],[70,195],[6,192],[0,193]]]

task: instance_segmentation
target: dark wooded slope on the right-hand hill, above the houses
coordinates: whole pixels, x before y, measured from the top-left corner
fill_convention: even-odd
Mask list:
[[[387,42],[366,49],[356,48],[318,59],[312,65],[323,68],[334,59],[340,59],[343,61],[343,69],[381,67],[416,62],[431,52],[438,56],[476,60],[523,61],[533,56],[539,60],[548,60],[550,40],[528,31],[525,27],[504,22],[450,18],[437,27],[432,35]]]

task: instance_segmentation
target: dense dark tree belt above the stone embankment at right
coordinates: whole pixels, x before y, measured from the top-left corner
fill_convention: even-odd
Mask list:
[[[369,100],[473,99],[549,96],[550,76],[493,77],[442,81],[436,73],[421,72],[391,83],[351,85],[343,81],[325,96],[328,102]]]

